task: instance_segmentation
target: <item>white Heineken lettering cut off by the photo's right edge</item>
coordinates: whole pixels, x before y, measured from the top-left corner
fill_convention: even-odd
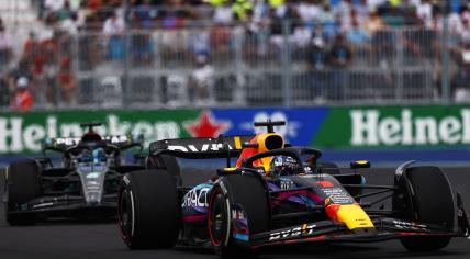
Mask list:
[[[351,110],[351,146],[446,145],[470,143],[470,109],[441,119],[414,116],[403,109],[399,117],[381,116],[377,109]]]

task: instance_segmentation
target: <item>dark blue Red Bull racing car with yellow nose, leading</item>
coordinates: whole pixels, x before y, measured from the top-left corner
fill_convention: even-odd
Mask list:
[[[367,184],[358,171],[368,161],[351,162],[350,172],[322,164],[320,150],[286,144],[272,131],[281,124],[255,123],[268,132],[254,136],[150,144],[147,169],[122,180],[119,227],[125,244],[212,247],[231,257],[279,245],[387,239],[430,251],[469,236],[460,194],[438,167],[406,162],[393,184]],[[221,157],[227,164],[237,158],[236,166],[189,171],[177,162]]]

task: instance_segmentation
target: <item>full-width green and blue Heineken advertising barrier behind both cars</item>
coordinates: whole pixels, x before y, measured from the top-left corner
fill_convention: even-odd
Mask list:
[[[287,122],[276,130],[292,145],[326,150],[467,150],[470,144],[466,105],[63,111],[0,113],[0,155],[36,154],[44,137],[80,136],[83,122],[103,123],[100,134],[142,133],[148,146],[164,138],[253,134],[253,122],[267,119]]]

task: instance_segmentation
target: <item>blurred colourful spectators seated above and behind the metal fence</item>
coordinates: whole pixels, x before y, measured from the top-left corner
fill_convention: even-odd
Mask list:
[[[313,71],[340,71],[354,63],[387,68],[391,66],[389,58],[395,55],[396,44],[403,44],[406,57],[433,63],[440,59],[443,42],[438,34],[444,30],[443,18],[447,13],[450,35],[447,44],[452,61],[461,68],[452,71],[452,80],[457,85],[470,81],[470,1],[467,0],[32,1],[45,29],[30,34],[16,58],[19,61],[8,71],[4,64],[12,59],[13,46],[8,29],[0,22],[0,91],[10,93],[9,98],[2,94],[0,105],[13,100],[22,77],[29,79],[33,95],[43,98],[47,105],[72,105],[77,86],[72,64],[78,64],[75,67],[78,70],[92,70],[103,60],[112,63],[131,57],[132,65],[148,68],[157,47],[168,48],[165,57],[171,63],[178,55],[175,49],[184,45],[191,55],[188,60],[193,61],[198,75],[201,60],[206,68],[213,60],[211,56],[233,47],[230,36],[239,26],[247,35],[246,41],[255,43],[243,46],[244,55],[254,63],[270,55],[279,56],[276,49],[284,47],[286,33],[293,48],[292,61],[305,60]],[[448,7],[443,7],[444,2]],[[403,34],[400,42],[388,32],[404,25],[418,31]],[[153,42],[156,29],[172,32],[178,27],[201,26],[208,30],[186,38],[179,34],[159,34],[160,45]],[[127,34],[130,31],[133,33]],[[128,44],[124,41],[126,36]],[[72,41],[80,46],[78,50],[72,49]],[[210,75],[213,74],[211,70]],[[334,78],[338,81],[334,87],[340,88],[340,74]],[[188,81],[190,94],[208,95],[208,90],[197,86],[198,80]]]

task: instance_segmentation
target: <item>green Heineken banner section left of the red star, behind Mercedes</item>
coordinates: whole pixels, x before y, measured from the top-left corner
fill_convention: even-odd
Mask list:
[[[182,124],[197,110],[163,111],[67,111],[53,113],[0,113],[0,154],[37,153],[45,137],[81,136],[80,123],[101,122],[101,135],[144,134],[150,140],[189,137]]]

